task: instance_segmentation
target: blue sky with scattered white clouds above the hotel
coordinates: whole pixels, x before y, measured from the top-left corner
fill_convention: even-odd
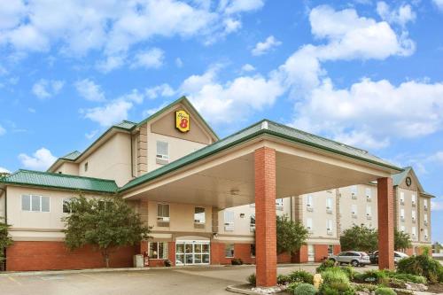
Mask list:
[[[443,0],[0,0],[0,171],[187,96],[412,166],[443,241]]]

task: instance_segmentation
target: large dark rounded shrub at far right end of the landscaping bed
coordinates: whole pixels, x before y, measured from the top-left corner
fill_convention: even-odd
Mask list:
[[[443,266],[439,260],[428,255],[417,255],[400,260],[397,265],[399,273],[424,276],[431,283],[443,282]]]

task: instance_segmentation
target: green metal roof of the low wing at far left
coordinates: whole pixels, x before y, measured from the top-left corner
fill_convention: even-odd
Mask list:
[[[64,190],[88,190],[103,193],[115,193],[118,189],[113,180],[61,175],[49,172],[23,170],[0,178],[0,183],[58,188]]]

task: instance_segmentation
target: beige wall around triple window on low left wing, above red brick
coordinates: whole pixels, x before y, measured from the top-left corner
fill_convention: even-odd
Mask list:
[[[22,195],[39,195],[50,198],[50,212],[28,212],[21,210]],[[63,199],[78,197],[78,193],[65,190],[44,190],[27,187],[8,186],[8,223],[11,224],[11,235],[14,237],[52,238],[60,236],[64,228],[61,219],[63,213]],[[97,195],[85,194],[87,198]],[[32,240],[32,239],[31,239]]]

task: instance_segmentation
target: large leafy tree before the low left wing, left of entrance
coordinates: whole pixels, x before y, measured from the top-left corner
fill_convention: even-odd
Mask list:
[[[106,268],[110,254],[120,246],[136,245],[147,238],[150,228],[144,226],[140,215],[122,199],[72,198],[71,213],[63,221],[65,243],[70,250],[92,245],[101,252]]]

